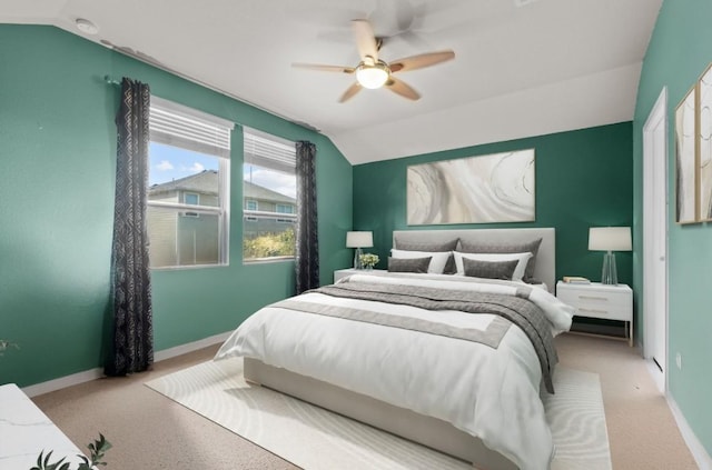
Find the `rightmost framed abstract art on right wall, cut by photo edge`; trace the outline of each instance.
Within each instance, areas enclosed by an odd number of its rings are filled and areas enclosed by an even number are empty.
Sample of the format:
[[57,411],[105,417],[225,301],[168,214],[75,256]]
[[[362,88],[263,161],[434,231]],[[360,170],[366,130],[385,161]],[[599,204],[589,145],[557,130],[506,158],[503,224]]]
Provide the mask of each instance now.
[[698,220],[712,220],[712,66],[700,78],[698,119],[698,163],[700,214]]

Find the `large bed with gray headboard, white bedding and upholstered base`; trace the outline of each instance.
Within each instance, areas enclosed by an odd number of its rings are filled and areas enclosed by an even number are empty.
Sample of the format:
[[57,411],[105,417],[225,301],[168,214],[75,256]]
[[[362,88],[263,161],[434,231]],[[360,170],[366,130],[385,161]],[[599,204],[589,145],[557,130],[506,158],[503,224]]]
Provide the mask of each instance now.
[[[553,391],[556,358],[540,337],[566,330],[573,316],[550,292],[554,229],[396,231],[394,247],[418,252],[457,240],[457,249],[496,251],[538,239],[525,279],[530,283],[439,272],[356,274],[260,309],[222,344],[216,360],[244,357],[245,378],[253,383],[478,469],[548,468],[554,449],[540,398],[546,391],[540,388]],[[431,257],[429,266],[434,261]],[[479,303],[458,302],[482,294],[504,299],[497,308],[506,320],[458,310]],[[437,302],[441,310],[426,310],[422,302],[427,308]],[[520,308],[531,313],[510,313]],[[532,332],[530,314],[544,318],[546,326]],[[526,324],[513,317],[523,317]],[[542,333],[546,328],[551,331]]]

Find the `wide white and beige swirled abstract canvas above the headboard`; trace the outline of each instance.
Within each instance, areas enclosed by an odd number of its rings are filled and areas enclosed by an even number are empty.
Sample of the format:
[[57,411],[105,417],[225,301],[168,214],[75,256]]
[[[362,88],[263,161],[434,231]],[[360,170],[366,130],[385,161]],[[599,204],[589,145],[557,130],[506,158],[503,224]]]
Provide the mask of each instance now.
[[409,226],[535,220],[534,149],[407,169]]

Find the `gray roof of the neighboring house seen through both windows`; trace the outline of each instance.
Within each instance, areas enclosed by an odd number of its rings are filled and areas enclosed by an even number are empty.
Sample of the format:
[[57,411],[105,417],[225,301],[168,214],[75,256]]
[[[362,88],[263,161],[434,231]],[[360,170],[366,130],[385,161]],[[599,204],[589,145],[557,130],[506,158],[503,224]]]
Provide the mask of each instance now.
[[[218,191],[218,172],[216,170],[202,170],[199,173],[191,174],[186,178],[168,181],[160,184],[154,184],[148,189],[149,194],[159,194],[170,191],[190,191],[201,194],[217,196]],[[294,198],[273,191],[259,184],[249,181],[243,181],[243,198],[256,199],[260,201],[284,202],[296,204]]]

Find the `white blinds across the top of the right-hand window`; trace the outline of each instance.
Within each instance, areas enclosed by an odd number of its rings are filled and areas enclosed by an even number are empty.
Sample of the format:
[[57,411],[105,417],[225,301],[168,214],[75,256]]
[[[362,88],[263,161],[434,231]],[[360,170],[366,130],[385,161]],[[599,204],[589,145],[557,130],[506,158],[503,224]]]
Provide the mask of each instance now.
[[247,127],[243,136],[245,163],[294,174],[297,161],[294,142]]

